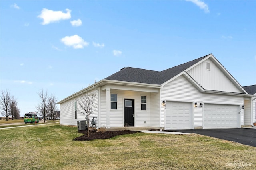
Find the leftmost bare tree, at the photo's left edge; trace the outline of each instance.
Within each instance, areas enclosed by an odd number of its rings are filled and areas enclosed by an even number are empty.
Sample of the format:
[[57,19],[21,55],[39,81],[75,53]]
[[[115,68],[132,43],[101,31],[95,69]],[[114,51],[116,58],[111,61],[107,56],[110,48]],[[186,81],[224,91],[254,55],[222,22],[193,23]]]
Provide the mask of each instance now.
[[10,90],[3,91],[1,90],[0,94],[0,111],[1,115],[6,117],[6,121],[8,121],[8,116],[10,116],[10,104],[11,104],[11,97],[10,97]]

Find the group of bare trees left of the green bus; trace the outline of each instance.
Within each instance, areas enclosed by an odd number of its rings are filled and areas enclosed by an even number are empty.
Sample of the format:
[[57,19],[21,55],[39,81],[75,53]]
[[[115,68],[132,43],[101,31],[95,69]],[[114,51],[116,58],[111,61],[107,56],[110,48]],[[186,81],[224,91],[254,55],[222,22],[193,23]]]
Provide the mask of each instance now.
[[10,95],[10,90],[1,90],[0,93],[0,115],[6,117],[12,116],[12,120],[20,119],[20,109],[18,108],[18,101],[14,96]]

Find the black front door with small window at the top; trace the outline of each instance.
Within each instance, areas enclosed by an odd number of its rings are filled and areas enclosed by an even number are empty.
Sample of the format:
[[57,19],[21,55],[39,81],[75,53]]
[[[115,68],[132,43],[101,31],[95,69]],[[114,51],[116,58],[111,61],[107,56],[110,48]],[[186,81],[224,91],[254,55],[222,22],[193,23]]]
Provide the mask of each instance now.
[[133,99],[124,99],[124,126],[134,126]]

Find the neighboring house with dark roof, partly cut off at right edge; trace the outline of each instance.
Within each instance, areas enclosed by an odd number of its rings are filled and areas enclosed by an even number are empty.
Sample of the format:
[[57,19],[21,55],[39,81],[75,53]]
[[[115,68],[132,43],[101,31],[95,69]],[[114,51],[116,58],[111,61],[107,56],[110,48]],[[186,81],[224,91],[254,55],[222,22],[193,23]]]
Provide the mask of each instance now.
[[[248,92],[248,94],[256,96],[256,84],[252,86],[244,86],[243,88],[244,90],[246,90],[246,92]],[[248,112],[249,115],[251,111],[252,123],[256,123],[256,97],[252,98],[251,101],[246,100],[245,102],[247,102],[246,105],[248,106],[248,108],[245,107],[244,112]],[[250,120],[248,119],[248,121]]]

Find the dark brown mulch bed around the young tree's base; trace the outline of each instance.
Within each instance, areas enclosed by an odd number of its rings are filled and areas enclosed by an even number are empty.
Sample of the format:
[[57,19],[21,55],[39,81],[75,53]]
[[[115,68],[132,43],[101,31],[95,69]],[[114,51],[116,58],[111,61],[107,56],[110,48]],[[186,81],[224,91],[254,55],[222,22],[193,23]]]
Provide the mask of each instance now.
[[84,135],[80,137],[76,137],[75,139],[73,139],[74,141],[91,141],[94,139],[109,139],[119,135],[138,133],[137,131],[106,131],[102,133],[102,132],[93,130],[89,132],[90,137],[87,137],[87,130],[82,130],[78,132]]

